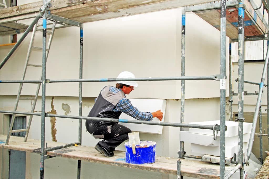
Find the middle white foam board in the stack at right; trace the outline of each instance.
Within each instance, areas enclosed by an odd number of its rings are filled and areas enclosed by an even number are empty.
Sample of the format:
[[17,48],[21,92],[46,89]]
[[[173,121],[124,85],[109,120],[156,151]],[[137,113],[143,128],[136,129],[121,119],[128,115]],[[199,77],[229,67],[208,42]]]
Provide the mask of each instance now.
[[[212,132],[213,133],[213,132]],[[243,142],[248,142],[250,133],[243,135]],[[180,132],[180,141],[187,143],[199,144],[204,146],[220,146],[220,137],[217,136],[217,140],[213,139],[213,135],[190,133],[189,131]],[[238,144],[238,136],[225,137],[225,144],[233,146]]]

